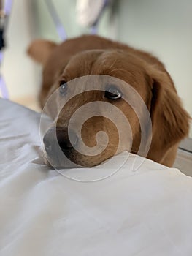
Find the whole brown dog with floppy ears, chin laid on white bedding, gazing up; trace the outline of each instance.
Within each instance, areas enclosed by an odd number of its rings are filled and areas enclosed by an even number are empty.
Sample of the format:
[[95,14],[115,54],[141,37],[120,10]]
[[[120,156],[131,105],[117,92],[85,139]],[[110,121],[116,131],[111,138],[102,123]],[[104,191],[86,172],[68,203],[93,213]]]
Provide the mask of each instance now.
[[64,167],[62,151],[77,165],[93,166],[121,151],[137,154],[142,136],[146,145],[150,141],[147,109],[153,137],[145,156],[162,162],[188,133],[189,116],[169,74],[147,53],[101,38],[96,46],[81,40],[82,48],[73,39],[60,46],[37,41],[28,50],[45,67],[42,105],[57,91],[54,106],[47,108],[55,118],[44,137],[47,158]]

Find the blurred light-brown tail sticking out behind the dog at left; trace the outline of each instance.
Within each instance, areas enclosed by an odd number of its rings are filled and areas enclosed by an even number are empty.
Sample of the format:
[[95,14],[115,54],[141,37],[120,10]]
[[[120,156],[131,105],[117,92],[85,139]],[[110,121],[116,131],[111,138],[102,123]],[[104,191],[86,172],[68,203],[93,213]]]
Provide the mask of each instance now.
[[56,46],[57,44],[55,44],[55,42],[50,42],[45,39],[37,39],[29,45],[27,53],[34,59],[34,61],[45,66],[50,53],[52,53]]

